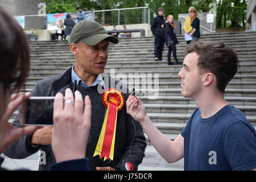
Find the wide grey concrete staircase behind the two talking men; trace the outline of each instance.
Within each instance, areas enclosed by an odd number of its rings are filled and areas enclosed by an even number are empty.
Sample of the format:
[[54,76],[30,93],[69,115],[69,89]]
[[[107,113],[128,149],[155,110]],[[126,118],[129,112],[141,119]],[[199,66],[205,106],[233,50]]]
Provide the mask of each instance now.
[[[179,61],[184,59],[184,48],[187,44],[182,36],[177,36]],[[224,42],[236,49],[239,57],[239,68],[236,76],[226,88],[225,98],[240,109],[256,128],[256,32],[229,32],[202,35],[202,41]],[[26,82],[26,90],[31,91],[37,81],[63,73],[74,63],[74,57],[67,42],[31,42],[31,69]],[[110,44],[109,59],[105,72],[117,79],[122,77],[129,88],[135,88],[147,113],[155,126],[168,138],[175,139],[186,125],[192,112],[196,109],[192,99],[181,96],[180,78],[177,73],[181,65],[167,65],[167,47],[164,48],[163,59],[154,61],[154,38],[124,38],[117,45]],[[174,61],[173,57],[171,60]],[[114,72],[114,74],[113,74]],[[143,78],[147,80],[147,88]],[[141,78],[141,79],[138,79]],[[154,85],[154,81],[159,82]],[[151,89],[148,87],[152,85]],[[158,93],[155,100],[150,99],[151,93]],[[147,138],[150,145],[150,140]],[[146,158],[139,169],[183,169],[183,163],[167,164],[157,156],[154,147],[148,146]],[[161,162],[159,162],[161,160]]]

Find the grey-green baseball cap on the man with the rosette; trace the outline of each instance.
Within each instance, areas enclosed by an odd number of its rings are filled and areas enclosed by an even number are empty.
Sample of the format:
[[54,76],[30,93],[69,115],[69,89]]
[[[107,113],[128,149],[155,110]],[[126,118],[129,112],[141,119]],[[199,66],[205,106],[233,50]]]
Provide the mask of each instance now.
[[104,39],[114,44],[118,43],[115,36],[109,35],[100,23],[92,20],[82,20],[77,23],[70,35],[70,43],[77,43],[81,40],[90,46],[95,46]]

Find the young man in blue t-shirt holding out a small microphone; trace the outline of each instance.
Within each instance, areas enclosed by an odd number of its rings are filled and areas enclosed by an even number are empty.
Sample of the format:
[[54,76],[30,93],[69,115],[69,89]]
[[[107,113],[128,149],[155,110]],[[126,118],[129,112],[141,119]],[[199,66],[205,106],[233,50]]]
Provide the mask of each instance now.
[[160,155],[174,163],[184,157],[185,170],[256,170],[256,134],[245,115],[224,98],[228,82],[236,75],[234,49],[216,42],[196,42],[185,49],[181,93],[198,108],[172,141],[150,121],[142,102],[129,96],[127,113],[136,115]]

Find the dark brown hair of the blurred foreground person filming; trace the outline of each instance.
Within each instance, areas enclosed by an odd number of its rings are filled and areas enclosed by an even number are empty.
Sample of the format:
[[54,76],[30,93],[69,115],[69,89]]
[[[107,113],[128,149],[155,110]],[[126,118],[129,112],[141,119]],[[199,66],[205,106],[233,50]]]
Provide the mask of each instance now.
[[[26,36],[19,24],[0,6],[0,83],[20,89],[30,69]],[[12,90],[12,91],[14,91]]]

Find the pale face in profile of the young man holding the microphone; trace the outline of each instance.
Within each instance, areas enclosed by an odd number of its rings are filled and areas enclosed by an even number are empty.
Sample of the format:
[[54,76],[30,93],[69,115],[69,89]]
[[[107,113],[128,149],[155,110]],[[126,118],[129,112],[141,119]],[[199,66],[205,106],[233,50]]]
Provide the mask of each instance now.
[[197,66],[199,55],[196,52],[189,53],[184,61],[178,76],[181,78],[181,94],[184,97],[195,98],[200,94],[203,86],[203,78]]

